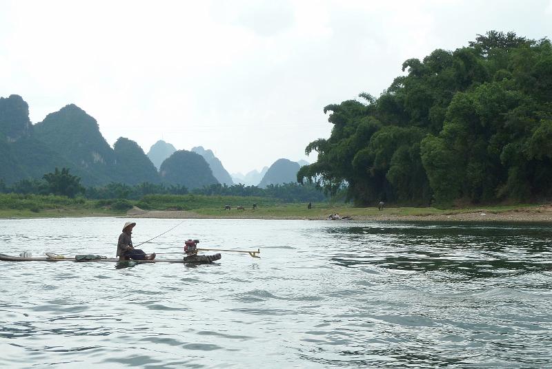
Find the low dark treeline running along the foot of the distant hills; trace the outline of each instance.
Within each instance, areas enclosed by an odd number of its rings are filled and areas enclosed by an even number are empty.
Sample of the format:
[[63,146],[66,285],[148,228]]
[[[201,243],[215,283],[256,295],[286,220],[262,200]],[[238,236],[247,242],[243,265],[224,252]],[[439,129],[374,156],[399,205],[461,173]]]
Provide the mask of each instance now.
[[83,196],[93,200],[128,199],[139,200],[147,195],[194,195],[205,196],[247,196],[257,198],[274,198],[282,202],[317,202],[326,200],[322,191],[314,184],[270,184],[262,189],[244,184],[211,184],[201,189],[188,191],[184,186],[166,185],[144,182],[135,185],[111,182],[105,186],[85,188],[80,184],[80,178],[72,176],[69,169],[56,169],[46,173],[43,179],[19,180],[8,186],[0,180],[0,193],[21,193],[37,195]]

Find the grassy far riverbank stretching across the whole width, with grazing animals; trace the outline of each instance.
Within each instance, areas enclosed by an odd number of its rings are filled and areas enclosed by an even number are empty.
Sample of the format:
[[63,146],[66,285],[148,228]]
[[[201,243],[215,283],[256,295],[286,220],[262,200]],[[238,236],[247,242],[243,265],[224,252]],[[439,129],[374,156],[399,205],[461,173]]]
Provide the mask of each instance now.
[[[257,209],[253,210],[253,204]],[[225,210],[230,205],[231,210]],[[244,210],[237,210],[238,206]],[[538,204],[435,209],[389,207],[355,208],[348,204],[320,202],[307,209],[306,204],[286,204],[270,198],[202,195],[150,195],[141,200],[88,200],[63,196],[0,194],[0,218],[127,216],[130,218],[259,218],[326,219],[338,213],[357,220],[508,220],[552,221],[552,207]]]

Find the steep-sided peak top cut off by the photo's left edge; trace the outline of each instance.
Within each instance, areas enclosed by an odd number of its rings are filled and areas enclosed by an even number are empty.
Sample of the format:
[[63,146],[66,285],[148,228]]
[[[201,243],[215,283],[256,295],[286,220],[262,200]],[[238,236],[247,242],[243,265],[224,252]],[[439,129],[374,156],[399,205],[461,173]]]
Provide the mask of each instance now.
[[0,142],[14,142],[31,134],[29,105],[19,95],[0,97]]

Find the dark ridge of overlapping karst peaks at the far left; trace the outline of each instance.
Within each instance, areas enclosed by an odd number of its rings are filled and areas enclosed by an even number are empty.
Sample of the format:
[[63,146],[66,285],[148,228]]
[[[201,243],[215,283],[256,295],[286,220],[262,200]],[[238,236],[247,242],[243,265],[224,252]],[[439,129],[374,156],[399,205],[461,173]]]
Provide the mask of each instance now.
[[42,178],[66,167],[86,185],[159,182],[159,173],[134,141],[119,138],[112,149],[94,118],[67,105],[31,125],[20,96],[0,98],[0,180]]

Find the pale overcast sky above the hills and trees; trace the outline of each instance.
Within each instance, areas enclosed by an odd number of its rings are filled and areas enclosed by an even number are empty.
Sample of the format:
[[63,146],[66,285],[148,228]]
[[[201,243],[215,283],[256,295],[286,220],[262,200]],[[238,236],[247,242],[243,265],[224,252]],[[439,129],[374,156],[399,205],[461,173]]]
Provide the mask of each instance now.
[[110,145],[202,145],[245,173],[314,161],[324,106],[488,30],[552,37],[552,1],[0,0],[0,96],[32,123],[75,103]]

